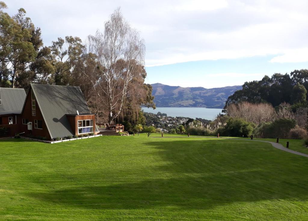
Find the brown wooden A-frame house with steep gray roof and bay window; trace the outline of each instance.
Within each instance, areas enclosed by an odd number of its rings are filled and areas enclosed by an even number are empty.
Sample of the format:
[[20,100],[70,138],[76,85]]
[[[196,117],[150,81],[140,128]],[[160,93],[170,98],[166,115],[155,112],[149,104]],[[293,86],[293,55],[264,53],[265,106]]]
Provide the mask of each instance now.
[[24,101],[20,98],[19,103],[22,111],[15,120],[18,130],[11,130],[10,135],[25,132],[24,135],[52,140],[97,132],[95,115],[79,87],[30,84]]

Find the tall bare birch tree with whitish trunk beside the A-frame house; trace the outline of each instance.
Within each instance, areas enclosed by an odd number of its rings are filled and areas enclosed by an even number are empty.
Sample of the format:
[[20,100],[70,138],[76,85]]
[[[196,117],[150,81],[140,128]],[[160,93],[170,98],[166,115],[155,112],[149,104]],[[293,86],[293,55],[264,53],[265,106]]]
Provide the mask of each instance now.
[[97,57],[99,76],[84,74],[107,106],[111,123],[121,113],[134,69],[144,65],[144,39],[130,27],[118,8],[105,22],[103,33],[98,30],[94,36],[88,36],[88,52]]

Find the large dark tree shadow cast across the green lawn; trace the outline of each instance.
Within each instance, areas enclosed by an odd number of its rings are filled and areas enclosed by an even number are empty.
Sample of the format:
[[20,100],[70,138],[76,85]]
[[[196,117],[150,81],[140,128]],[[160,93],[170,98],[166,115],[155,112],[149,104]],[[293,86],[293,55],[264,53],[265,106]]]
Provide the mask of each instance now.
[[[152,154],[162,162],[168,162],[152,168],[154,174],[164,175],[148,174],[145,180],[136,177],[136,182],[128,175],[129,182],[121,184],[97,182],[30,196],[72,207],[105,209],[209,209],[234,202],[308,199],[306,159],[281,155],[270,145],[231,140],[164,140],[146,145],[157,150]],[[97,174],[93,177],[97,179]]]

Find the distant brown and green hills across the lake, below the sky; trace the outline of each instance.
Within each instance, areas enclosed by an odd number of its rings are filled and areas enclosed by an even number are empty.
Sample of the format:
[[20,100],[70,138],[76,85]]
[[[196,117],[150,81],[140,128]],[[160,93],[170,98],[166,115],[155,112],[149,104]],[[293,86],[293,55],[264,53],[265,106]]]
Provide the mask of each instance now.
[[242,86],[210,89],[202,87],[183,88],[160,83],[151,85],[156,107],[223,108],[228,97],[242,88]]

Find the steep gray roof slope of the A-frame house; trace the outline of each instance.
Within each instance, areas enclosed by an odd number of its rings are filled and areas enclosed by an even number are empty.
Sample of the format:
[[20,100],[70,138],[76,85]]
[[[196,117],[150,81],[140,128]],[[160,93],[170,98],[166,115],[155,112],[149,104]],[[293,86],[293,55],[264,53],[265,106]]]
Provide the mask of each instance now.
[[51,138],[74,135],[66,114],[91,113],[79,87],[31,84]]

